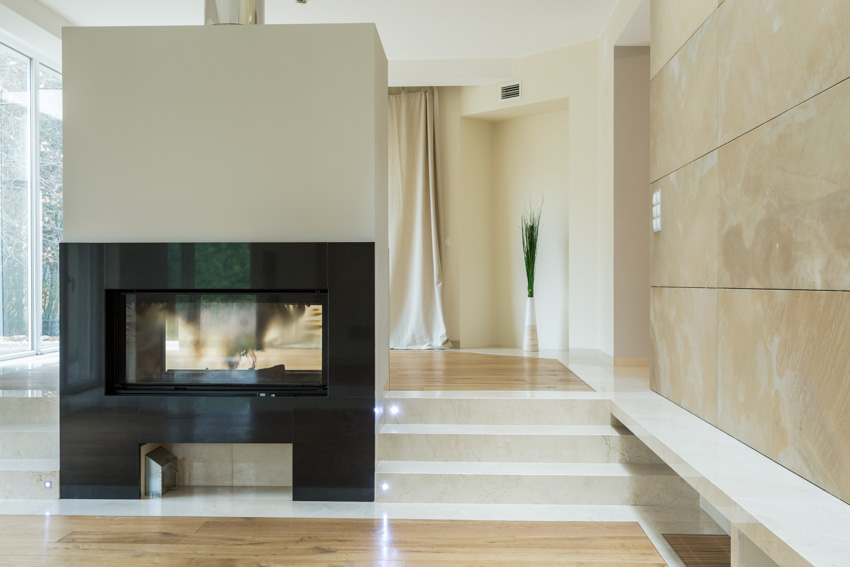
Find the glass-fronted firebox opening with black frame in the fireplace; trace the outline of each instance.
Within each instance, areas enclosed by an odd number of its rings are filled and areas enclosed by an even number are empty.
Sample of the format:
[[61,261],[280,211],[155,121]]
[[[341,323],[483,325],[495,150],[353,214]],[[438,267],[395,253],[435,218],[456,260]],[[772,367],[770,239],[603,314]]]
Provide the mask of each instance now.
[[107,290],[107,394],[327,395],[327,293]]

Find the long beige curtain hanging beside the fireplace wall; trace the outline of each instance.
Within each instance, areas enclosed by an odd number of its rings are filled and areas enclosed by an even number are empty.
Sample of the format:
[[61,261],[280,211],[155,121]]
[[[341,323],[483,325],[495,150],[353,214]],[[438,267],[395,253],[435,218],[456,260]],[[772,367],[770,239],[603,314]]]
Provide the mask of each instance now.
[[389,97],[390,348],[452,348],[442,301],[437,89]]

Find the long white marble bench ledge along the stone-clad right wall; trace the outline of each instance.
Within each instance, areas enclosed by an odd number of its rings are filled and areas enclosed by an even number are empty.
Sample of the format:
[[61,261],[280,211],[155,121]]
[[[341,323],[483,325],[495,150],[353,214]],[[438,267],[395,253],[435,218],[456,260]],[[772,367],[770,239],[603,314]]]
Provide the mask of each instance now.
[[779,565],[848,564],[850,505],[658,394],[611,413]]

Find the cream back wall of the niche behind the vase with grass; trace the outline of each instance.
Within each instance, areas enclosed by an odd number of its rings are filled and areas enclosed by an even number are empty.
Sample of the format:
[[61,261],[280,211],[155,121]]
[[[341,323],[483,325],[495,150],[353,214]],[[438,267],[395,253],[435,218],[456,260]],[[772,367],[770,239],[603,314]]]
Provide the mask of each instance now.
[[569,111],[495,123],[493,154],[495,344],[521,347],[527,297],[520,217],[543,205],[535,275],[540,348],[569,348]]

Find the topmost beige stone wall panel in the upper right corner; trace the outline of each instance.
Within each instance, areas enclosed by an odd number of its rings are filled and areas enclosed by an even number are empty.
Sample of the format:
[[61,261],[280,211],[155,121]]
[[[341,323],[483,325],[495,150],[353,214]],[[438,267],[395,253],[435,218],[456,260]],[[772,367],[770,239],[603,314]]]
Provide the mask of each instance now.
[[736,0],[717,17],[719,144],[850,76],[846,0]]

